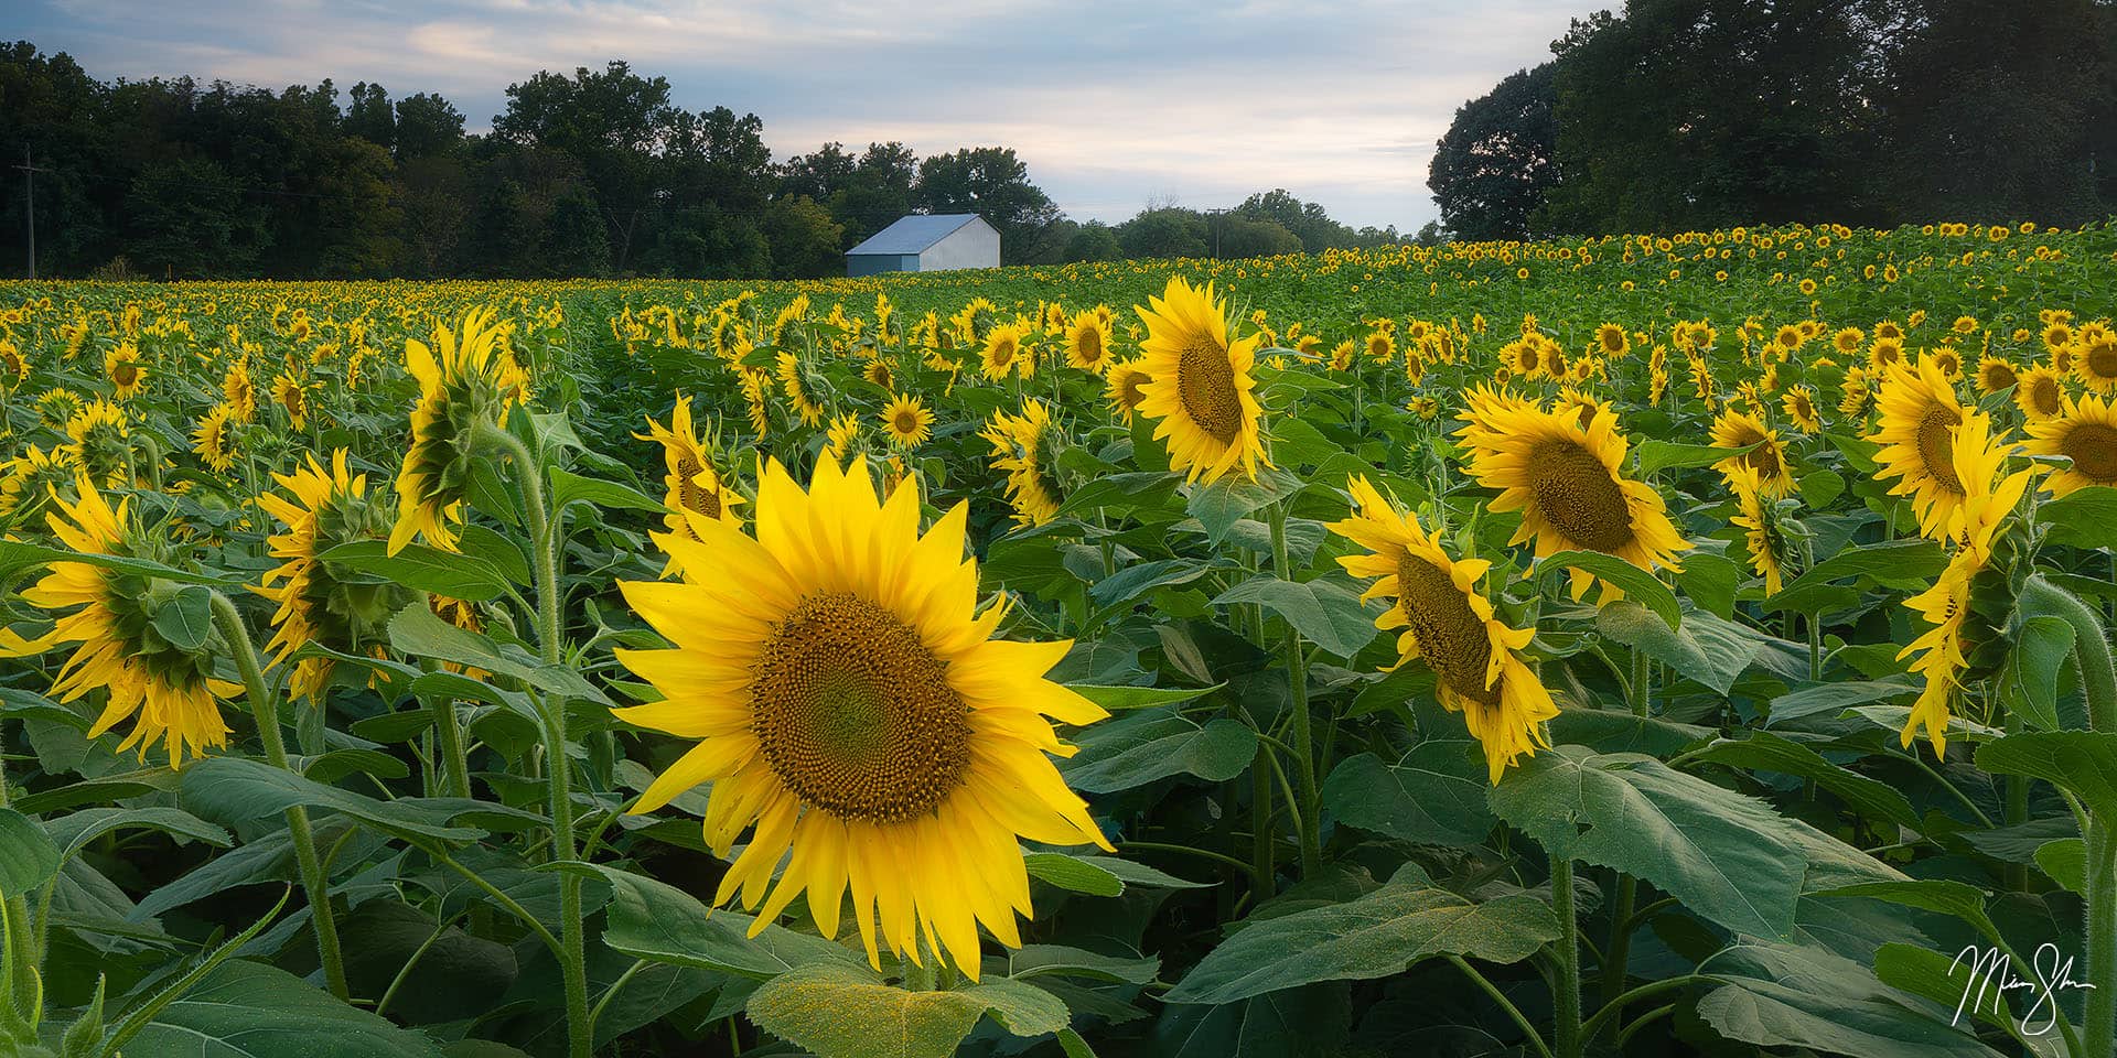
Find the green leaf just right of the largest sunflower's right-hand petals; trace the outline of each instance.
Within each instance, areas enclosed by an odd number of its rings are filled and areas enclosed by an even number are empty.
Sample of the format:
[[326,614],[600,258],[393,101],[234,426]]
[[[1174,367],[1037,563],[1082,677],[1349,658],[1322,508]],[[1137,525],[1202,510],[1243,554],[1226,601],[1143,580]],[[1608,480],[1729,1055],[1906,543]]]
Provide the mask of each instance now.
[[1215,717],[1205,726],[1164,711],[1137,711],[1073,736],[1080,753],[1058,764],[1067,785],[1088,794],[1133,789],[1171,774],[1213,783],[1234,779],[1257,755],[1257,734]]

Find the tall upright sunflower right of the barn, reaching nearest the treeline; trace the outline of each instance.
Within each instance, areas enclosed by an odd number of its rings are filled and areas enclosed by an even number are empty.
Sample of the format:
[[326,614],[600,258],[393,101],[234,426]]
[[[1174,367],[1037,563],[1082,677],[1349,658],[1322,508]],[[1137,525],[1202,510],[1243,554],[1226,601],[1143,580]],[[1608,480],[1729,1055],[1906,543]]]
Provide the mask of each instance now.
[[1150,309],[1135,307],[1147,324],[1139,368],[1150,381],[1141,385],[1139,413],[1160,421],[1154,440],[1169,438],[1171,470],[1211,485],[1241,463],[1243,476],[1255,480],[1260,459],[1272,466],[1257,436],[1264,411],[1249,375],[1257,336],[1228,339],[1226,305],[1215,300],[1213,284],[1194,288],[1173,275],[1162,296],[1147,303]]

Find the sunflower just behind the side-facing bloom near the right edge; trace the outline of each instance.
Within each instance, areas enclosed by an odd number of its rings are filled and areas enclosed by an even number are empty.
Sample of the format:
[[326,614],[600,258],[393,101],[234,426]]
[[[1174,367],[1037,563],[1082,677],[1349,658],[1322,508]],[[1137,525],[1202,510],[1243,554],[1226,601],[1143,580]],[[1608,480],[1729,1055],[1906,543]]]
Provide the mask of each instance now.
[[1876,396],[1882,421],[1867,438],[1882,446],[1874,461],[1876,478],[1897,478],[1888,495],[1910,495],[1918,531],[1941,540],[1962,506],[1962,478],[1956,476],[1950,438],[1962,425],[1962,404],[1956,389],[1941,379],[1933,360],[1918,366],[1899,364],[1882,381]]

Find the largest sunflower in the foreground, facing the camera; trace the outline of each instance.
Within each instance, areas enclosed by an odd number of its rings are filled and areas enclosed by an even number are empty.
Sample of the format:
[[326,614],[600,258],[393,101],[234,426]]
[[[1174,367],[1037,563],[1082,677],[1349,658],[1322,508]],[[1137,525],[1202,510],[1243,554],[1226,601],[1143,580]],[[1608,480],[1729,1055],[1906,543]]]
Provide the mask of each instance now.
[[1048,758],[1073,753],[1052,719],[1107,713],[1044,679],[1071,643],[993,639],[965,518],[921,535],[910,482],[883,501],[864,461],[824,459],[802,493],[771,461],[756,537],[699,518],[701,542],[654,535],[684,582],[620,584],[673,647],[618,652],[667,698],[616,715],[699,741],[633,813],[711,783],[713,853],[756,827],[713,897],[762,899],[752,933],[807,891],[834,937],[851,889],[874,965],[879,942],[925,965],[923,940],[976,980],[978,927],[1012,948],[1031,914],[1020,838],[1109,849]]

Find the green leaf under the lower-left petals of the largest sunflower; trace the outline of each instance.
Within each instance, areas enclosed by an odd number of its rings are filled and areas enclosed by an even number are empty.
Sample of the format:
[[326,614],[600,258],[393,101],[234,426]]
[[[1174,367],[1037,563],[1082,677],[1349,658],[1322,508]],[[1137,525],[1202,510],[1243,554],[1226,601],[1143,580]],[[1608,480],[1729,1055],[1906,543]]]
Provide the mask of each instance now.
[[862,965],[849,948],[779,925],[749,937],[756,918],[707,910],[690,893],[654,878],[589,863],[565,863],[563,870],[610,882],[603,944],[633,959],[758,980],[819,963]]

